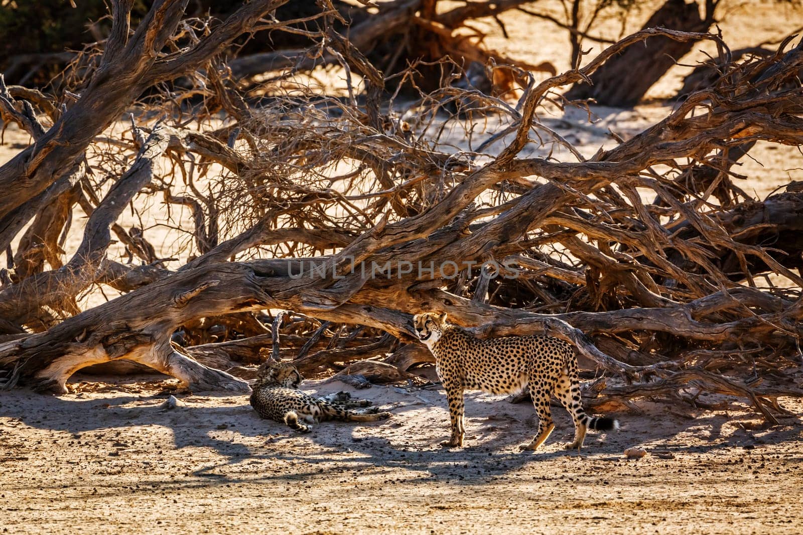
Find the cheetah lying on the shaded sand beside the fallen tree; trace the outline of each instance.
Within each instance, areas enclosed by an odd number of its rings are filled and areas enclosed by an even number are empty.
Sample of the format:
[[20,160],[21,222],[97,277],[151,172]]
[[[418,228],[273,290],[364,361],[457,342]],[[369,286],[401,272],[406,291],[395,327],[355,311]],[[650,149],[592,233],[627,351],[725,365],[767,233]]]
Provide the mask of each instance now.
[[303,433],[327,419],[345,422],[373,422],[388,419],[389,412],[380,412],[378,407],[365,411],[351,411],[355,407],[369,407],[368,399],[351,399],[349,392],[337,392],[323,398],[315,398],[296,390],[304,377],[291,363],[268,360],[259,367],[254,391],[251,392],[251,407],[262,418],[283,422]]

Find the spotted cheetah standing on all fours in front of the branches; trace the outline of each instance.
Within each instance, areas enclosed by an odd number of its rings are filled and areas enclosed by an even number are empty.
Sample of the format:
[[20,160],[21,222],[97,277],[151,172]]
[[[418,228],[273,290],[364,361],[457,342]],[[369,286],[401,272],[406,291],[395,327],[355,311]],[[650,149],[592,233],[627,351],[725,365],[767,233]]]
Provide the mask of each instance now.
[[451,438],[442,446],[463,446],[464,389],[512,394],[529,385],[538,412],[538,434],[521,449],[535,450],[555,428],[549,411],[552,394],[574,419],[574,442],[567,448],[579,450],[589,428],[595,431],[619,428],[613,418],[594,418],[583,411],[577,357],[568,343],[543,334],[480,339],[447,324],[446,314],[416,314],[413,322],[418,338],[435,356],[438,377],[446,389]]

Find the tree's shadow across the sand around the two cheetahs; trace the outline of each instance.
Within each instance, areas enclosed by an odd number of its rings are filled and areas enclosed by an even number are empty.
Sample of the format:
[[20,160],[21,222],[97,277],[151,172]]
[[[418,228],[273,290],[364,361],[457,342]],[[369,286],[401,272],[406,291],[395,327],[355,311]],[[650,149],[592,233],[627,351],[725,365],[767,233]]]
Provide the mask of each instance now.
[[[18,420],[33,428],[71,433],[76,438],[85,433],[132,426],[169,428],[173,434],[173,447],[177,450],[212,448],[224,458],[222,462],[192,472],[194,476],[205,480],[199,484],[236,483],[239,481],[236,473],[220,474],[215,470],[226,465],[258,464],[260,460],[286,460],[294,466],[291,471],[266,474],[257,480],[339,476],[352,473],[360,467],[373,466],[419,472],[418,479],[422,482],[442,480],[471,484],[515,475],[526,464],[557,457],[569,456],[580,462],[620,460],[622,451],[636,444],[644,444],[648,448],[650,444],[660,444],[660,448],[666,452],[682,454],[715,452],[725,448],[754,448],[756,444],[800,440],[801,436],[797,425],[799,419],[784,419],[782,425],[764,428],[760,431],[760,437],[748,430],[724,436],[723,425],[729,421],[725,415],[707,412],[697,418],[680,417],[671,414],[666,407],[655,406],[642,415],[619,415],[622,420],[622,431],[619,433],[601,436],[589,432],[585,448],[578,454],[562,448],[561,443],[571,439],[573,426],[565,411],[553,408],[552,415],[557,428],[542,447],[543,451],[519,452],[518,444],[529,441],[535,432],[537,420],[532,406],[488,401],[482,395],[468,393],[467,447],[446,449],[438,446],[448,432],[442,392],[405,392],[392,387],[353,391],[335,383],[332,387],[320,389],[319,393],[339,389],[350,390],[355,397],[367,397],[376,404],[389,406],[393,411],[393,419],[359,425],[326,422],[315,426],[312,433],[300,435],[282,424],[259,419],[251,410],[247,395],[188,395],[183,396],[186,407],[161,411],[159,404],[169,392],[146,391],[128,395],[123,387],[108,397],[93,394],[85,399],[80,399],[80,395],[46,397],[29,391],[13,391],[0,398],[0,417]],[[33,396],[47,400],[40,405],[46,406],[46,411],[31,411],[31,403],[26,401],[30,402]],[[221,402],[226,405],[219,406]],[[491,407],[489,403],[498,403],[500,406]],[[494,409],[493,416],[486,416],[491,408]],[[415,418],[417,425],[408,425],[406,415],[413,411],[426,411],[429,417],[422,418],[418,412]],[[636,420],[638,425],[634,424]],[[645,425],[645,421],[650,424]],[[634,433],[629,432],[631,428]],[[225,433],[222,432],[224,430]],[[682,441],[684,433],[694,433],[707,444],[685,447]],[[333,456],[336,456],[337,463],[332,463]],[[544,479],[560,479],[562,476],[559,473],[544,473]],[[255,480],[252,475],[247,479]]]

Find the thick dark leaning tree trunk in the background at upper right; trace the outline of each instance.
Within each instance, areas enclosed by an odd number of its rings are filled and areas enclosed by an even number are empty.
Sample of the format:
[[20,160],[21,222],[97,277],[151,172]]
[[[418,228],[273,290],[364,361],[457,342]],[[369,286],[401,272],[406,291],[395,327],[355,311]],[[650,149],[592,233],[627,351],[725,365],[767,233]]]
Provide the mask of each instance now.
[[[714,22],[714,7],[715,2],[706,2],[703,19],[695,2],[666,0],[643,27],[703,32]],[[647,39],[645,46],[628,47],[622,54],[609,59],[591,76],[593,85],[576,83],[565,96],[568,99],[596,99],[605,106],[633,106],[694,45],[691,40],[675,41],[668,37]]]

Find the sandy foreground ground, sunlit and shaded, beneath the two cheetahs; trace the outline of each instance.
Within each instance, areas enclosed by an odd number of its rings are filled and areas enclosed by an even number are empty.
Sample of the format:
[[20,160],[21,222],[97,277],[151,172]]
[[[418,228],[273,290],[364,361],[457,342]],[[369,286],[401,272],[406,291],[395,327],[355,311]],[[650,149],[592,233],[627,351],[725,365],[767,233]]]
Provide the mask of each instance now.
[[[446,450],[437,390],[310,382],[394,416],[300,435],[247,396],[178,390],[186,407],[160,411],[173,381],[71,386],[0,398],[2,533],[800,533],[801,422],[766,428],[736,403],[620,413],[580,455],[555,408],[533,454],[532,406],[500,396],[467,395],[467,448]],[[627,460],[634,446],[650,453]]]

